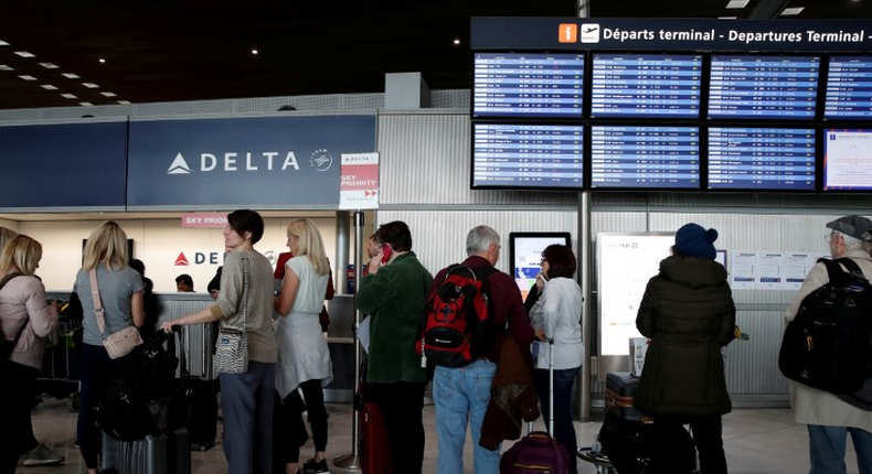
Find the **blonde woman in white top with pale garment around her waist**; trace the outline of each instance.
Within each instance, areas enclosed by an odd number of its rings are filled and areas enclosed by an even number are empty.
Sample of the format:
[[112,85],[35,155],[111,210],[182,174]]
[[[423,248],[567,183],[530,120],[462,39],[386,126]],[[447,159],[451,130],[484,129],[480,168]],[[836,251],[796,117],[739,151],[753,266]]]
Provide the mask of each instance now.
[[284,466],[287,474],[297,472],[299,449],[308,439],[302,422],[306,410],[312,429],[315,457],[304,464],[304,472],[328,473],[325,459],[327,409],[322,387],[333,379],[333,369],[318,315],[323,306],[330,263],[321,234],[310,219],[288,225],[288,247],[294,257],[285,263],[281,293],[275,302],[281,317],[276,327],[274,452],[276,463]]

